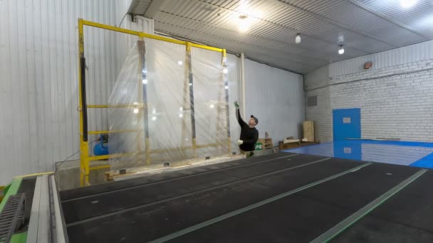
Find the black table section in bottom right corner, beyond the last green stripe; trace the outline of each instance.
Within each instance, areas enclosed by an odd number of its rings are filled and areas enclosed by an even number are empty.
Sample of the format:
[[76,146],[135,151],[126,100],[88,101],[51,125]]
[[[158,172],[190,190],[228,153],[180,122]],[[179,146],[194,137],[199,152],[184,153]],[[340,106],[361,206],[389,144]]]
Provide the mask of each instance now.
[[427,171],[331,242],[433,242],[432,185]]

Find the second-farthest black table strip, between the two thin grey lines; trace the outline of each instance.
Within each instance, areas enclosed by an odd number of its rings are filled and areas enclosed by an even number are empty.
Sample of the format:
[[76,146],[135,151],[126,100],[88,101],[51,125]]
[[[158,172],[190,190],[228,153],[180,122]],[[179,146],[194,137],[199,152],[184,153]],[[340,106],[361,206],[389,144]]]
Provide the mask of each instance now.
[[220,187],[228,183],[262,176],[273,171],[293,168],[319,161],[324,157],[293,155],[281,158],[268,158],[260,163],[248,163],[246,166],[232,166],[224,170],[217,169],[207,173],[196,173],[177,179],[162,180],[155,183],[137,185],[111,192],[99,193],[85,198],[68,200],[62,203],[66,224],[85,220],[110,212],[125,210],[130,207],[149,204],[160,200],[177,197],[199,190]]

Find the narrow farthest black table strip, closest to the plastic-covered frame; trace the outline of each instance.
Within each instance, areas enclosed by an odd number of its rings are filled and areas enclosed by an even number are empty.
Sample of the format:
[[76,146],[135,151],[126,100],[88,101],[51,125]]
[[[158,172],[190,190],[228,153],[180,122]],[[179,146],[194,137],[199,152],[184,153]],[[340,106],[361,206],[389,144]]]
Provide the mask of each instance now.
[[191,168],[188,170],[173,171],[173,172],[162,173],[162,174],[158,174],[158,175],[133,178],[130,180],[121,180],[121,181],[117,181],[115,183],[105,183],[105,184],[100,184],[100,185],[92,185],[92,186],[85,187],[85,188],[75,188],[75,189],[71,189],[71,190],[63,190],[63,191],[61,191],[60,195],[61,195],[62,201],[71,200],[73,198],[80,198],[80,197],[85,197],[88,195],[95,195],[98,193],[110,192],[113,190],[121,190],[123,188],[130,188],[130,187],[134,187],[137,185],[144,185],[147,183],[153,183],[153,182],[157,182],[157,181],[161,181],[161,180],[169,180],[172,178],[178,178],[178,177],[193,175],[193,174],[197,174],[197,173],[206,173],[208,171],[221,170],[221,169],[229,168],[232,166],[240,166],[240,165],[244,165],[246,163],[266,161],[268,159],[285,157],[285,156],[290,156],[293,154],[295,154],[295,153],[274,153],[274,154],[266,155],[266,156],[244,158],[244,159],[237,160],[237,161],[229,161],[229,162],[225,162],[225,163],[216,163],[216,164],[209,165],[209,166],[201,166],[201,167]]

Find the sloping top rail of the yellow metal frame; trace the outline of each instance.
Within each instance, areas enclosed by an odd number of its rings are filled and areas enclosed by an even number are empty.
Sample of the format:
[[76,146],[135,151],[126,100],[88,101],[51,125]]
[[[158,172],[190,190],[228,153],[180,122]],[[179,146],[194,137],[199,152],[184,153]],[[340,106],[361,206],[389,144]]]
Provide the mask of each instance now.
[[[115,26],[108,26],[106,24],[103,23],[95,23],[92,21],[85,21],[83,20],[83,25],[84,26],[92,26],[92,27],[96,27],[96,28],[103,28],[105,30],[109,30],[109,31],[116,31],[116,32],[120,32],[120,33],[127,33],[130,35],[134,35],[134,36],[138,36],[140,38],[150,38],[150,39],[154,39],[154,40],[159,40],[159,41],[165,41],[165,42],[169,42],[169,43],[176,43],[179,45],[187,45],[187,41],[179,41],[176,39],[172,39],[172,38],[167,38],[164,36],[155,36],[155,35],[151,35],[148,33],[143,33],[143,32],[138,32],[138,31],[131,31],[128,30],[126,28],[118,28]],[[196,43],[190,43],[191,46],[194,46],[195,48],[202,48],[202,49],[206,49],[206,50],[214,50],[217,51],[219,53],[222,53],[224,51],[224,49],[221,48],[214,48],[212,46],[207,46],[207,45],[200,45],[200,44],[196,44]]]

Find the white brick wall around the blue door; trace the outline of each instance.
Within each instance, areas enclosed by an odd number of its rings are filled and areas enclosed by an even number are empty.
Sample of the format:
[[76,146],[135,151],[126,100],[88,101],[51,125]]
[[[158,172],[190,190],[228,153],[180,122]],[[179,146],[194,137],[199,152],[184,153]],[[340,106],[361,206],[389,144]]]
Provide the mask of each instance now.
[[433,141],[433,60],[307,80],[306,85],[307,97],[318,95],[318,106],[307,107],[306,119],[316,121],[316,139],[322,142],[332,140],[332,109],[355,107],[361,108],[362,138]]

